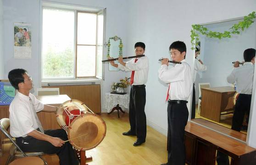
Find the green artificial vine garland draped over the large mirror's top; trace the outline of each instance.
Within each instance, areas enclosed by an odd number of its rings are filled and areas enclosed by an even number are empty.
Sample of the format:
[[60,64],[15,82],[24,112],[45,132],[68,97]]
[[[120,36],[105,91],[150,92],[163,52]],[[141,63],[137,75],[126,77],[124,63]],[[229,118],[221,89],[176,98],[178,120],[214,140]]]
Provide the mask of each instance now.
[[[202,35],[205,35],[206,37],[210,38],[230,38],[231,34],[240,34],[240,31],[244,31],[245,28],[250,27],[250,25],[254,22],[253,20],[256,18],[255,11],[250,13],[248,16],[244,17],[243,21],[238,22],[238,24],[234,24],[231,28],[228,29],[228,31],[224,32],[212,32],[206,27],[203,27],[202,25],[192,25],[191,29],[191,43],[192,43],[192,50],[195,49],[195,47],[199,43],[199,33]],[[195,42],[194,42],[195,41]]]

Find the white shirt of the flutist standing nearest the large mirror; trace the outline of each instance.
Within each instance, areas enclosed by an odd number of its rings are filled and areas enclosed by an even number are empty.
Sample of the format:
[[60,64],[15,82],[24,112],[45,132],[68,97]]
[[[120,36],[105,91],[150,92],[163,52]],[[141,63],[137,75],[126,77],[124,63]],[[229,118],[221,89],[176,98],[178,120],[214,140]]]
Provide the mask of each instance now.
[[174,66],[161,65],[158,77],[165,83],[170,83],[170,100],[188,100],[192,92],[192,73],[186,60]]

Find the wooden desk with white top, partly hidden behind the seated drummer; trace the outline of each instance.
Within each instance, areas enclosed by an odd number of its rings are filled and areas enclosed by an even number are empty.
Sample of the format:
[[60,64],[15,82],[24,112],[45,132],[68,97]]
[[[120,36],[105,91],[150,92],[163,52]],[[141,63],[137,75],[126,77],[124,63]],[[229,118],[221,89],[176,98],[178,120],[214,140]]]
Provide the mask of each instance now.
[[[37,99],[51,106],[60,106],[65,101],[70,100],[67,95],[51,95],[51,96],[36,96]],[[57,123],[55,113],[51,112],[38,112],[38,117],[42,123],[43,128],[46,129],[58,129],[60,126]],[[0,106],[0,118],[9,118],[9,106]],[[2,154],[2,140],[6,136],[0,132],[0,155]]]

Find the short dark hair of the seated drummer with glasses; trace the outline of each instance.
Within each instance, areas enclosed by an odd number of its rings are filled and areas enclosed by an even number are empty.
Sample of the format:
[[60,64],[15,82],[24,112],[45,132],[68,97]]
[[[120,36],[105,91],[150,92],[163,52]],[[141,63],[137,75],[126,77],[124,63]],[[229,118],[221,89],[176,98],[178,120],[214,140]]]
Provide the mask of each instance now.
[[11,83],[11,85],[15,88],[15,89],[19,89],[18,84],[21,82],[24,82],[24,77],[23,75],[27,73],[27,71],[25,69],[13,69],[9,72],[8,74],[8,79]]

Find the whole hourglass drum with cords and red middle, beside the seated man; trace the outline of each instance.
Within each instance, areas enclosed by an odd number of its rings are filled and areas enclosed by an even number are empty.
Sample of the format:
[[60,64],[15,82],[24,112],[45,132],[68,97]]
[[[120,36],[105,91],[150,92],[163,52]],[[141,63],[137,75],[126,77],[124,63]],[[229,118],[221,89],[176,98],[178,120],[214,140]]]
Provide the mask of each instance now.
[[66,130],[70,144],[78,150],[95,148],[106,136],[106,123],[82,101],[72,99],[59,106],[58,124]]

